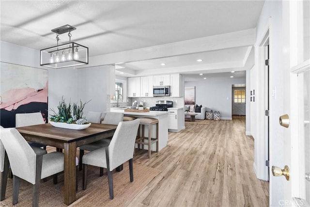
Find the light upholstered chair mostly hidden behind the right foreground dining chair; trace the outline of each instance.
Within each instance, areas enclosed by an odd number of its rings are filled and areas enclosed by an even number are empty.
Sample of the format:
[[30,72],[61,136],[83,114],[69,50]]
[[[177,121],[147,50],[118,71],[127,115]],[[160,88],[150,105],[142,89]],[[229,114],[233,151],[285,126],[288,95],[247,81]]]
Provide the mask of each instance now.
[[[101,117],[101,115],[100,115]],[[109,124],[109,125],[118,125],[124,119],[124,113],[119,112],[106,112],[106,116],[104,120],[101,122],[102,124]],[[100,122],[99,122],[100,123]],[[93,151],[95,149],[99,149],[101,147],[109,146],[111,142],[110,139],[103,139],[99,140],[94,143],[89,143],[79,147],[79,170],[82,170],[82,159],[84,155],[84,150]],[[100,176],[103,175],[103,169],[100,169]]]

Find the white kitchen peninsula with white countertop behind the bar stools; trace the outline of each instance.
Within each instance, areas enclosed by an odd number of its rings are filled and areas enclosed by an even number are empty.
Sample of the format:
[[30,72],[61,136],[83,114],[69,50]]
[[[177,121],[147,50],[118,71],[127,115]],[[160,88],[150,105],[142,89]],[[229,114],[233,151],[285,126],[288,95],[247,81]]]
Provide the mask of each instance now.
[[[127,112],[124,108],[111,108],[111,112],[124,113],[124,116],[133,116],[137,118],[155,118],[158,120],[158,151],[167,146],[168,143],[168,111],[148,111],[148,112]],[[148,136],[148,127],[145,127],[145,137]],[[152,126],[152,137],[156,137],[156,125]],[[147,145],[144,145],[144,149],[148,149]],[[156,151],[156,144],[152,145],[152,151]]]

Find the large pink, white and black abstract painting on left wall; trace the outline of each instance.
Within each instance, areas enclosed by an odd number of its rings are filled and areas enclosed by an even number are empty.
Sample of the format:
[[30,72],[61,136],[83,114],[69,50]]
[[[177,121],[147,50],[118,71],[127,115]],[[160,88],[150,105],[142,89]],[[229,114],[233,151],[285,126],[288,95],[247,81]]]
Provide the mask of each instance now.
[[15,127],[16,113],[41,112],[47,122],[48,70],[0,63],[0,124]]

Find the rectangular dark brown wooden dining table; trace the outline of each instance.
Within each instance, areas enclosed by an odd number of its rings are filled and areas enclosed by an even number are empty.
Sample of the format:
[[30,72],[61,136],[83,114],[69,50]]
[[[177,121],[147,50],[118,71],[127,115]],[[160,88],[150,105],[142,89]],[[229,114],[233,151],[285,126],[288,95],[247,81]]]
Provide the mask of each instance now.
[[86,129],[67,129],[50,124],[17,127],[27,140],[63,149],[64,153],[64,201],[66,205],[76,201],[77,147],[112,137],[117,125],[94,124]]

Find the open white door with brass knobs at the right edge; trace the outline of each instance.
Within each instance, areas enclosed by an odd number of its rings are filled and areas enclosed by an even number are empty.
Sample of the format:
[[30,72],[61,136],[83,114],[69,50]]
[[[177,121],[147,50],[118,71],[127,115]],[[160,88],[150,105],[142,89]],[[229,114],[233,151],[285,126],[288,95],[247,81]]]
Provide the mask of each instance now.
[[[284,198],[280,206],[310,204],[310,1],[283,1],[284,80],[290,91],[284,98],[289,115],[289,127],[284,135],[284,163],[289,166],[290,180],[285,181]],[[288,21],[286,22],[286,18]],[[289,24],[287,24],[289,23]],[[285,55],[287,54],[287,55]],[[289,73],[287,73],[289,72]],[[283,166],[280,166],[281,168]]]

